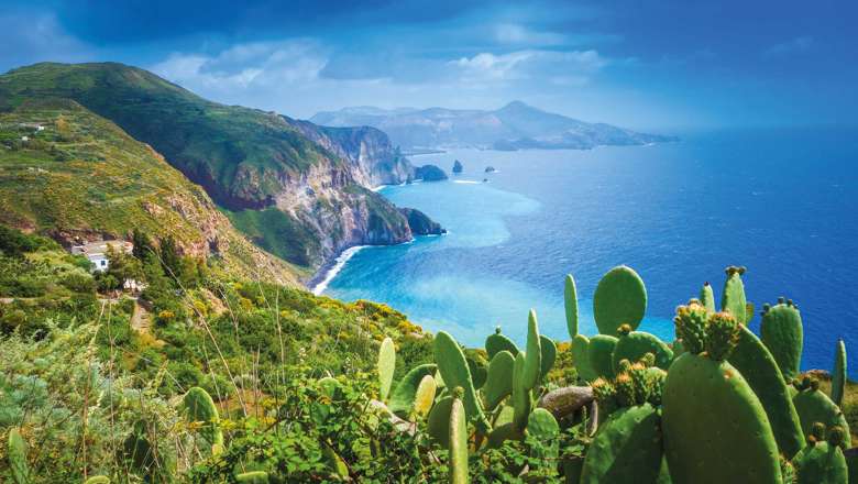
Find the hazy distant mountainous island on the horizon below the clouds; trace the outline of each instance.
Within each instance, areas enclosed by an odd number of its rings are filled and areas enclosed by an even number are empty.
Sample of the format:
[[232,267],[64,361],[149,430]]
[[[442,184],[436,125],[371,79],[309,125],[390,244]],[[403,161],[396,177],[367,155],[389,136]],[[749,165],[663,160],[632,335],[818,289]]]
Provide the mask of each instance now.
[[327,127],[377,128],[408,152],[447,147],[504,151],[590,150],[678,141],[605,123],[588,123],[542,111],[521,101],[494,110],[343,108],[323,111],[310,121]]

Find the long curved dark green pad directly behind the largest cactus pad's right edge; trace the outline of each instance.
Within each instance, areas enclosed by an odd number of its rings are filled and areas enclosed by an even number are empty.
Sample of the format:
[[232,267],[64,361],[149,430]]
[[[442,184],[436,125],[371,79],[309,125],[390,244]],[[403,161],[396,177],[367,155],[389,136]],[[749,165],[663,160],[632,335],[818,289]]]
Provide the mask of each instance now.
[[738,344],[729,362],[745,376],[760,399],[778,448],[791,459],[804,447],[804,433],[792,405],[792,395],[774,358],[748,327],[741,326]]

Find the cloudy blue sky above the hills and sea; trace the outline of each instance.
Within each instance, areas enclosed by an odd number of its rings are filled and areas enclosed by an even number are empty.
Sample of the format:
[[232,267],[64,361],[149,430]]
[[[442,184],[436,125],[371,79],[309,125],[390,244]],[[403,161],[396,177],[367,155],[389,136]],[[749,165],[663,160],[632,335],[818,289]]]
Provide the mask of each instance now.
[[635,129],[856,124],[858,2],[0,0],[0,72],[121,62],[309,118],[513,100]]

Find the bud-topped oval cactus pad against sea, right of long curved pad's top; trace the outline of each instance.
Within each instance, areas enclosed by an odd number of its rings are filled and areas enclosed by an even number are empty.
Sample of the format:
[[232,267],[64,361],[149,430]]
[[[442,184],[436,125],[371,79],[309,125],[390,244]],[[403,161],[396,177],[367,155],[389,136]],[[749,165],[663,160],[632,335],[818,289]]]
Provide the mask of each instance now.
[[760,339],[788,381],[801,371],[803,332],[802,315],[792,300],[780,298],[774,306],[763,305]]

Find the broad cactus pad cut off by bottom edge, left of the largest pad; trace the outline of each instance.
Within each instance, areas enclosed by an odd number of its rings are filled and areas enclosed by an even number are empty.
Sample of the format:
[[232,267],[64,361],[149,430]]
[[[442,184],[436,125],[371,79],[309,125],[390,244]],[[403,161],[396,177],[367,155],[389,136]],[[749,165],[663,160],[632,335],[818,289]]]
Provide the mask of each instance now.
[[620,408],[600,425],[580,483],[656,483],[662,457],[658,411],[649,404]]

